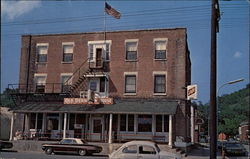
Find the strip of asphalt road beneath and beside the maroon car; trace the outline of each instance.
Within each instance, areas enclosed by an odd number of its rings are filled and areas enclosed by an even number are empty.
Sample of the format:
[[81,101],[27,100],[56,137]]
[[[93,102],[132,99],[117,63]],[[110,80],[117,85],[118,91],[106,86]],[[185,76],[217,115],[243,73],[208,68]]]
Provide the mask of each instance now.
[[92,155],[79,156],[75,154],[55,154],[46,155],[41,152],[17,152],[17,151],[0,151],[0,159],[108,159],[108,156]]

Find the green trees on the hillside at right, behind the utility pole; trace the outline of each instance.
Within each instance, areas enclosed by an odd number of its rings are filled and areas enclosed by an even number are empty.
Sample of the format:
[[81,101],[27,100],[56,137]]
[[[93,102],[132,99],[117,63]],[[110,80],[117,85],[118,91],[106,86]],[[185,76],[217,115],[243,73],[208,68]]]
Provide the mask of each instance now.
[[[249,120],[249,86],[248,84],[244,89],[218,98],[217,129],[219,133],[223,132],[229,136],[236,135],[240,123]],[[198,115],[204,120],[201,127],[205,129],[205,134],[208,134],[209,103],[198,102],[193,105],[197,106]]]

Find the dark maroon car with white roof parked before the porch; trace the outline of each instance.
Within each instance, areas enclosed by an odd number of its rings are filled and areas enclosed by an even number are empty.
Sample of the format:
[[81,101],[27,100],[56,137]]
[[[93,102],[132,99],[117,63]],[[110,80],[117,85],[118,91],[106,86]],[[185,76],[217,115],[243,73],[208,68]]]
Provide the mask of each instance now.
[[65,138],[59,143],[42,144],[42,149],[48,155],[53,152],[76,152],[81,156],[100,153],[101,146],[89,145],[84,140],[78,138]]

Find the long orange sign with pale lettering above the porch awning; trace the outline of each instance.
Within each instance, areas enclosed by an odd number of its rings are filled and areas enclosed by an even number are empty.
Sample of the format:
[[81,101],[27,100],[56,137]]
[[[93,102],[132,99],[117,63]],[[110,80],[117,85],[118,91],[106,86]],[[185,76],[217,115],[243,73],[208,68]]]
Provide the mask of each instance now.
[[87,98],[64,98],[64,104],[113,104],[113,98],[95,98],[88,101]]

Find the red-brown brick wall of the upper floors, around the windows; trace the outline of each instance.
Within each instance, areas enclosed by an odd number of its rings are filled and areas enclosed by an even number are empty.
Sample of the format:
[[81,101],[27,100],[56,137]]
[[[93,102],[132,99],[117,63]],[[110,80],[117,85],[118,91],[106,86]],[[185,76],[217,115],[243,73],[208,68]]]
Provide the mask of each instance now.
[[[185,89],[190,82],[185,29],[161,29],[141,31],[107,32],[112,40],[109,63],[110,96],[113,97],[164,97],[184,99]],[[29,36],[22,37],[20,83],[26,83],[29,55]],[[167,60],[154,60],[154,38],[168,38]],[[138,39],[136,62],[125,60],[125,40]],[[58,35],[35,35],[31,37],[29,84],[34,73],[47,73],[46,83],[60,83],[61,73],[73,73],[88,57],[88,41],[103,40],[103,33],[79,33]],[[62,42],[74,42],[74,57],[70,64],[62,63]],[[48,43],[48,62],[36,63],[36,44]],[[167,72],[167,95],[154,96],[154,71]],[[124,95],[124,72],[137,72],[136,96]]]

